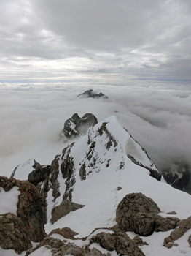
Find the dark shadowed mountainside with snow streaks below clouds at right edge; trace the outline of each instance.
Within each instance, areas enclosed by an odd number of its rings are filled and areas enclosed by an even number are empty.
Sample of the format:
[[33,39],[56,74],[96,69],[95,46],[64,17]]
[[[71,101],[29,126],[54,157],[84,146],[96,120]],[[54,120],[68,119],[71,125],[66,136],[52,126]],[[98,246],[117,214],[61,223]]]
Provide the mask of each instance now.
[[176,189],[184,190],[190,181],[190,167],[186,162],[175,160],[162,170],[162,174],[165,181]]

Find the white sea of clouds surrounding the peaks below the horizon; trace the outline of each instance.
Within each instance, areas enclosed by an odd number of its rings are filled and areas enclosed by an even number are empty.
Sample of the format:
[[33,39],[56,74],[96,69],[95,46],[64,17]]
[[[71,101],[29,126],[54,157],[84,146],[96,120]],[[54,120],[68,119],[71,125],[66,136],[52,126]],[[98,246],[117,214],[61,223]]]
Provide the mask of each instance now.
[[[77,97],[87,89],[109,99]],[[172,159],[191,165],[191,89],[180,83],[131,81],[127,86],[0,83],[0,175],[29,158],[50,164],[71,143],[60,138],[66,119],[93,113],[118,121],[159,169]]]

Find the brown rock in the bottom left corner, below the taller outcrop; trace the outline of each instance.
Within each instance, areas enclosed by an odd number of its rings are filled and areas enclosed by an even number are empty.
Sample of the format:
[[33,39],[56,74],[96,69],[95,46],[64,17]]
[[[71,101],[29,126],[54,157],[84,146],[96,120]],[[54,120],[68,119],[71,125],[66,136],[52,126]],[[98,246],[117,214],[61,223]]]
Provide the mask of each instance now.
[[26,226],[15,214],[0,215],[0,246],[3,249],[15,249],[17,253],[32,247]]

